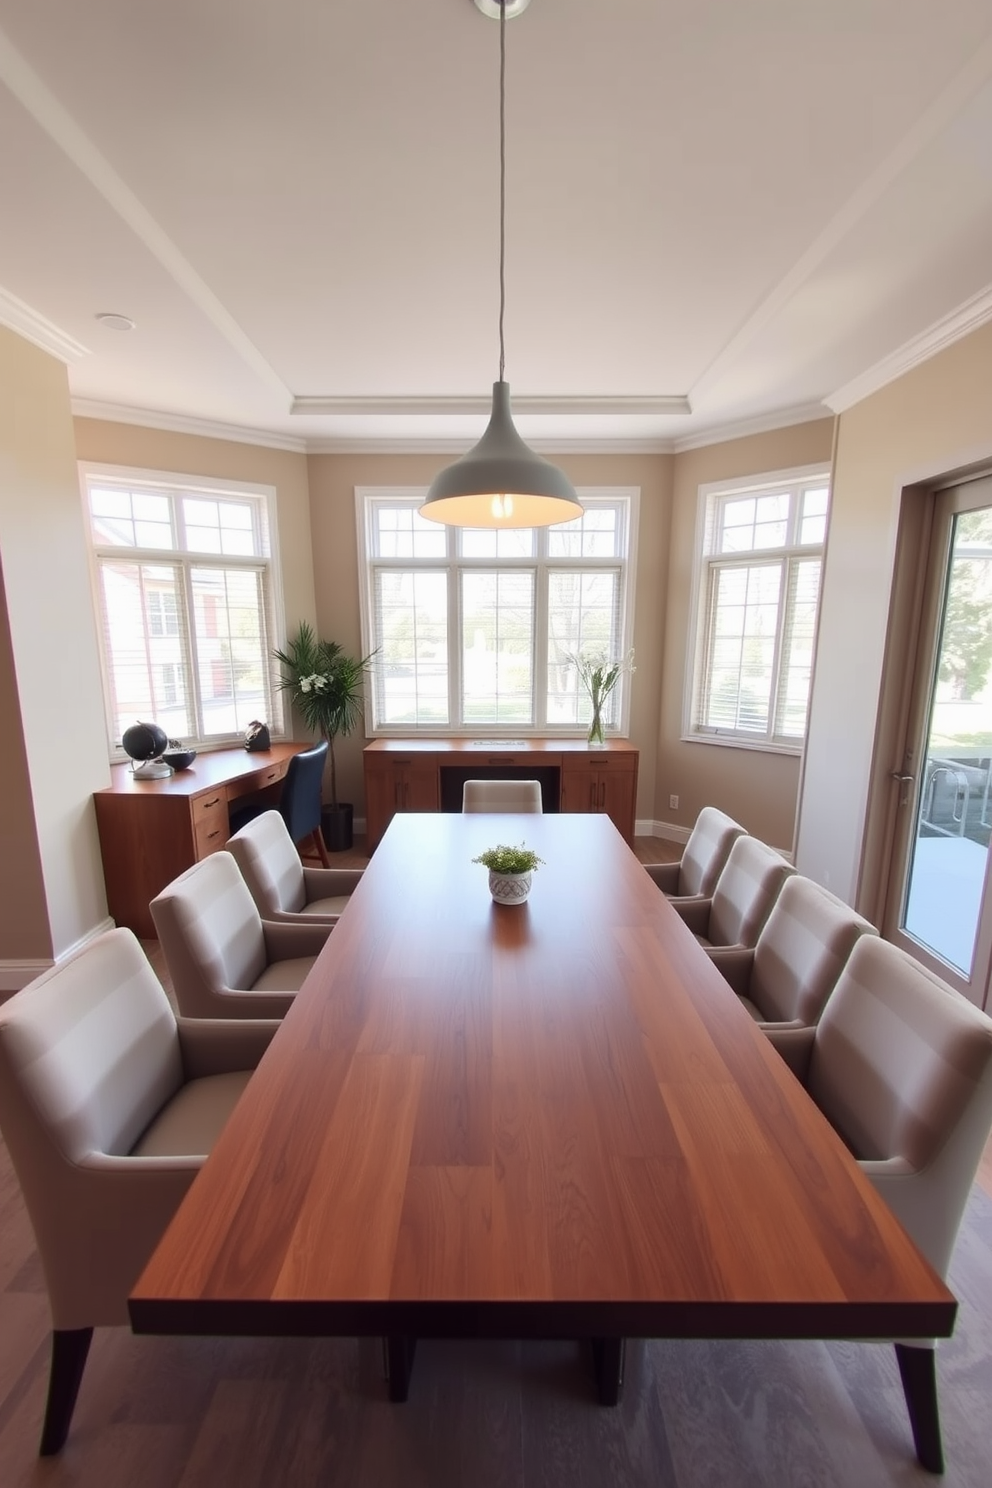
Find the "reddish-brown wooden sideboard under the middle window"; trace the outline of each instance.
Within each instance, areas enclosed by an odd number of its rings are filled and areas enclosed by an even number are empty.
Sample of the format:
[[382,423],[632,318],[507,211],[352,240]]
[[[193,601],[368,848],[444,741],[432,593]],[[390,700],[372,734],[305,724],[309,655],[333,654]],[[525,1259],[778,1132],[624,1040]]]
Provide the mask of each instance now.
[[369,851],[397,811],[460,811],[468,778],[537,778],[546,811],[602,811],[634,841],[638,750],[626,740],[375,740],[364,750]]

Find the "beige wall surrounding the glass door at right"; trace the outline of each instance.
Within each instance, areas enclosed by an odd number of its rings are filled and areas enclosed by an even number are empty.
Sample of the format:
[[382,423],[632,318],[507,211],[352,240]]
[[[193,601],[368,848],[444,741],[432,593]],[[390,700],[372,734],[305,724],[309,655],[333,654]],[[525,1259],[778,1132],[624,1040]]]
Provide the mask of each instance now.
[[992,326],[839,420],[797,863],[852,903],[877,887],[861,865],[903,490],[989,460]]

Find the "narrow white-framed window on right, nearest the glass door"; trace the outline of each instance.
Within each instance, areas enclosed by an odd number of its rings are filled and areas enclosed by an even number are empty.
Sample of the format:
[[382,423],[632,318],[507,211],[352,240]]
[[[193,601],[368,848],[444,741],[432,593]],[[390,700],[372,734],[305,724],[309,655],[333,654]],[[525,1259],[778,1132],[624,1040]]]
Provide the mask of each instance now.
[[700,490],[689,738],[802,747],[828,501],[824,470]]

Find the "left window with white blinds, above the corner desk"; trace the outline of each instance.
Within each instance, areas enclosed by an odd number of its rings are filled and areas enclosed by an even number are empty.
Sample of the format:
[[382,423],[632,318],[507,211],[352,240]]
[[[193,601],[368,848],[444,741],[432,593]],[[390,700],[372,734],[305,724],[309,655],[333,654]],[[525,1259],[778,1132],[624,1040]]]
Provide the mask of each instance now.
[[112,748],[135,719],[170,738],[278,729],[269,658],[271,493],[83,467]]

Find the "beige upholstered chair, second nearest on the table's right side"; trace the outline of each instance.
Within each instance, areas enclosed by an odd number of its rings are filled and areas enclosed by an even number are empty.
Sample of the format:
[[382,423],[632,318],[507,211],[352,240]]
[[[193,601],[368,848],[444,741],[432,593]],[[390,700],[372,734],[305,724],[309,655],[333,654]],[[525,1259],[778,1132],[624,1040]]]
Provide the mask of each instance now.
[[709,958],[761,1028],[803,1028],[819,1019],[863,934],[876,934],[875,926],[819,884],[793,873],[754,949],[712,946]]

